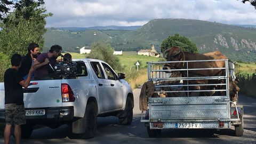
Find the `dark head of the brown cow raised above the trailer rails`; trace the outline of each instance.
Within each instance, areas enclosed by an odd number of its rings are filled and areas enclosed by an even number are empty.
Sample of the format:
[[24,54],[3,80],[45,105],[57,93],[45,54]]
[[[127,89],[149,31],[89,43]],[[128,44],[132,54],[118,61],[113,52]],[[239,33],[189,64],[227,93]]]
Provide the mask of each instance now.
[[[166,49],[163,52],[163,57],[166,59],[166,61],[181,61],[185,60],[184,54],[181,51],[181,49],[177,46],[172,46],[169,49]],[[165,63],[163,66],[163,69],[177,69],[180,66],[180,62],[175,63]],[[168,73],[168,71],[166,71]]]

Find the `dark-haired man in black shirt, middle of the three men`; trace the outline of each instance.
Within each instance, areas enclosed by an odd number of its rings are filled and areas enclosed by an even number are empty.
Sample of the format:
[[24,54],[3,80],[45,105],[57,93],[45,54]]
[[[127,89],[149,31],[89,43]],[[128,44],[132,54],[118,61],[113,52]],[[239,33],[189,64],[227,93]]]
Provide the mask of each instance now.
[[[33,58],[36,58],[38,53],[39,53],[39,45],[36,43],[30,43],[28,45],[28,53],[22,57],[21,67],[19,68],[19,74],[24,79],[27,78],[29,69],[31,68],[32,65],[34,65]],[[32,74],[32,79],[33,78],[34,78],[34,75]]]

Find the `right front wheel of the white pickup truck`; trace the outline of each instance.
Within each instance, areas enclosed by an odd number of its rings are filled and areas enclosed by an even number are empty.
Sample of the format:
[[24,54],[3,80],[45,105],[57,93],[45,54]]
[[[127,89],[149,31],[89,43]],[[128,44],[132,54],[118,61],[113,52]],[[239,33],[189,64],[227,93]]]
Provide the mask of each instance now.
[[126,103],[125,103],[125,109],[123,111],[123,114],[119,116],[119,123],[122,125],[129,125],[132,123],[132,117],[133,117],[133,108],[132,108],[132,99],[130,97],[127,97]]

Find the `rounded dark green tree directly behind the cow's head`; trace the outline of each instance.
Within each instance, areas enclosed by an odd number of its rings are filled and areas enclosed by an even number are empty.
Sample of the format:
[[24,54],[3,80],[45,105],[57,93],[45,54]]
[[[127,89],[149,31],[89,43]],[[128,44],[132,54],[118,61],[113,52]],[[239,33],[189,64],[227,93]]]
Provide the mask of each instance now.
[[186,52],[191,52],[191,53],[198,52],[198,49],[195,43],[191,42],[190,39],[188,39],[185,36],[179,36],[179,34],[175,34],[164,39],[164,41],[160,46],[161,52],[163,52],[164,50],[172,46],[178,46],[181,48],[182,51],[186,51]]

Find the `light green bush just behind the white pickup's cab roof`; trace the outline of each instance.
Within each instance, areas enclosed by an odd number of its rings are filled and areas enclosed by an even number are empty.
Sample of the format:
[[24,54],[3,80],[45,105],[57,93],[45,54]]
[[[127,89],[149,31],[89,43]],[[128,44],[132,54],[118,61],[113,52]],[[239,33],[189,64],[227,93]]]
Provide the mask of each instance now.
[[113,53],[114,49],[110,44],[98,42],[92,44],[91,53],[87,55],[87,58],[106,61],[115,70],[120,70],[122,68],[121,63]]

